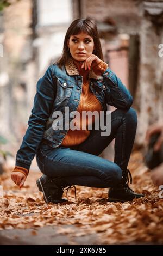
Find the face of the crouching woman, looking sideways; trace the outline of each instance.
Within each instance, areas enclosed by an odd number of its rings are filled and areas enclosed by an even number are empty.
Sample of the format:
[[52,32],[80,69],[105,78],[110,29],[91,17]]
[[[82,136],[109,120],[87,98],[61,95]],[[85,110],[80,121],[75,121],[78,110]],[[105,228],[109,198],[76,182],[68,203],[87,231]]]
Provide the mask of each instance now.
[[95,47],[93,38],[83,32],[78,35],[71,35],[67,42],[73,59],[84,62],[93,52]]

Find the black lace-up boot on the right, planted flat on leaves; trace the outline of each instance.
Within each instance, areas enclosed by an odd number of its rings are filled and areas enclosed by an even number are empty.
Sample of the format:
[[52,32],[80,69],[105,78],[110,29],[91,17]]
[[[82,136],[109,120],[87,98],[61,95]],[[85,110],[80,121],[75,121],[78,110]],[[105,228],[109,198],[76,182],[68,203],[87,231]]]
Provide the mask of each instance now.
[[128,186],[130,178],[130,183],[132,184],[132,176],[129,170],[122,170],[122,180],[116,186],[110,188],[108,192],[108,200],[110,202],[127,202],[135,198],[144,197],[143,194],[138,194],[135,191],[131,190]]

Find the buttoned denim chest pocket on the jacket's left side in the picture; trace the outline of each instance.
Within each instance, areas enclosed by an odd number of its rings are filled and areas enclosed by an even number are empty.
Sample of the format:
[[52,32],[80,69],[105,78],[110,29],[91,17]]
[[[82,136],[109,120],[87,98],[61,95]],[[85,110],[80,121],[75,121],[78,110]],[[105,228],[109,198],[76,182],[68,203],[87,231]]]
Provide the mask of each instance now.
[[64,81],[60,78],[57,78],[57,94],[56,97],[58,100],[69,99],[72,93],[74,84],[70,81]]

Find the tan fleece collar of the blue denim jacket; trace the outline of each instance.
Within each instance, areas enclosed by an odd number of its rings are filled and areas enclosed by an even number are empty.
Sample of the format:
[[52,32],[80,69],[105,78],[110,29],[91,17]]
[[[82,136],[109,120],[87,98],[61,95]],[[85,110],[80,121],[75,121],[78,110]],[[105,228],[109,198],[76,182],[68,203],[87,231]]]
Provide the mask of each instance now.
[[[79,71],[76,67],[76,65],[73,63],[73,59],[69,59],[68,60],[68,63],[65,65],[65,69],[68,73],[69,76],[74,76],[74,75],[78,75],[79,76]],[[93,70],[91,69],[90,72],[89,72],[89,79],[90,78],[93,78],[93,79],[102,79],[102,76],[98,76],[96,75]]]

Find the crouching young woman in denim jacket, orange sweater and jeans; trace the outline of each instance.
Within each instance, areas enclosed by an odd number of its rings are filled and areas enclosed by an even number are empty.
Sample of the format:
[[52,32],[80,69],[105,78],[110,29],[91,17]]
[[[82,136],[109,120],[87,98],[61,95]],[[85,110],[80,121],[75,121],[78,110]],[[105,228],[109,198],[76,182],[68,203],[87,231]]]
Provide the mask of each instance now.
[[[37,82],[29,127],[17,151],[12,180],[23,186],[36,154],[43,173],[36,183],[47,203],[65,202],[63,190],[71,185],[110,187],[112,202],[143,197],[128,186],[131,174],[127,166],[137,126],[132,103],[130,92],[103,61],[95,20],[73,21],[60,60]],[[95,119],[83,118],[82,114],[103,111],[108,126],[106,104],[117,109],[111,113],[110,134],[102,135],[101,126],[95,129]],[[78,112],[76,129],[72,127],[74,115],[68,116],[67,109]],[[86,129],[81,129],[84,124]],[[114,162],[99,157],[114,138]]]

